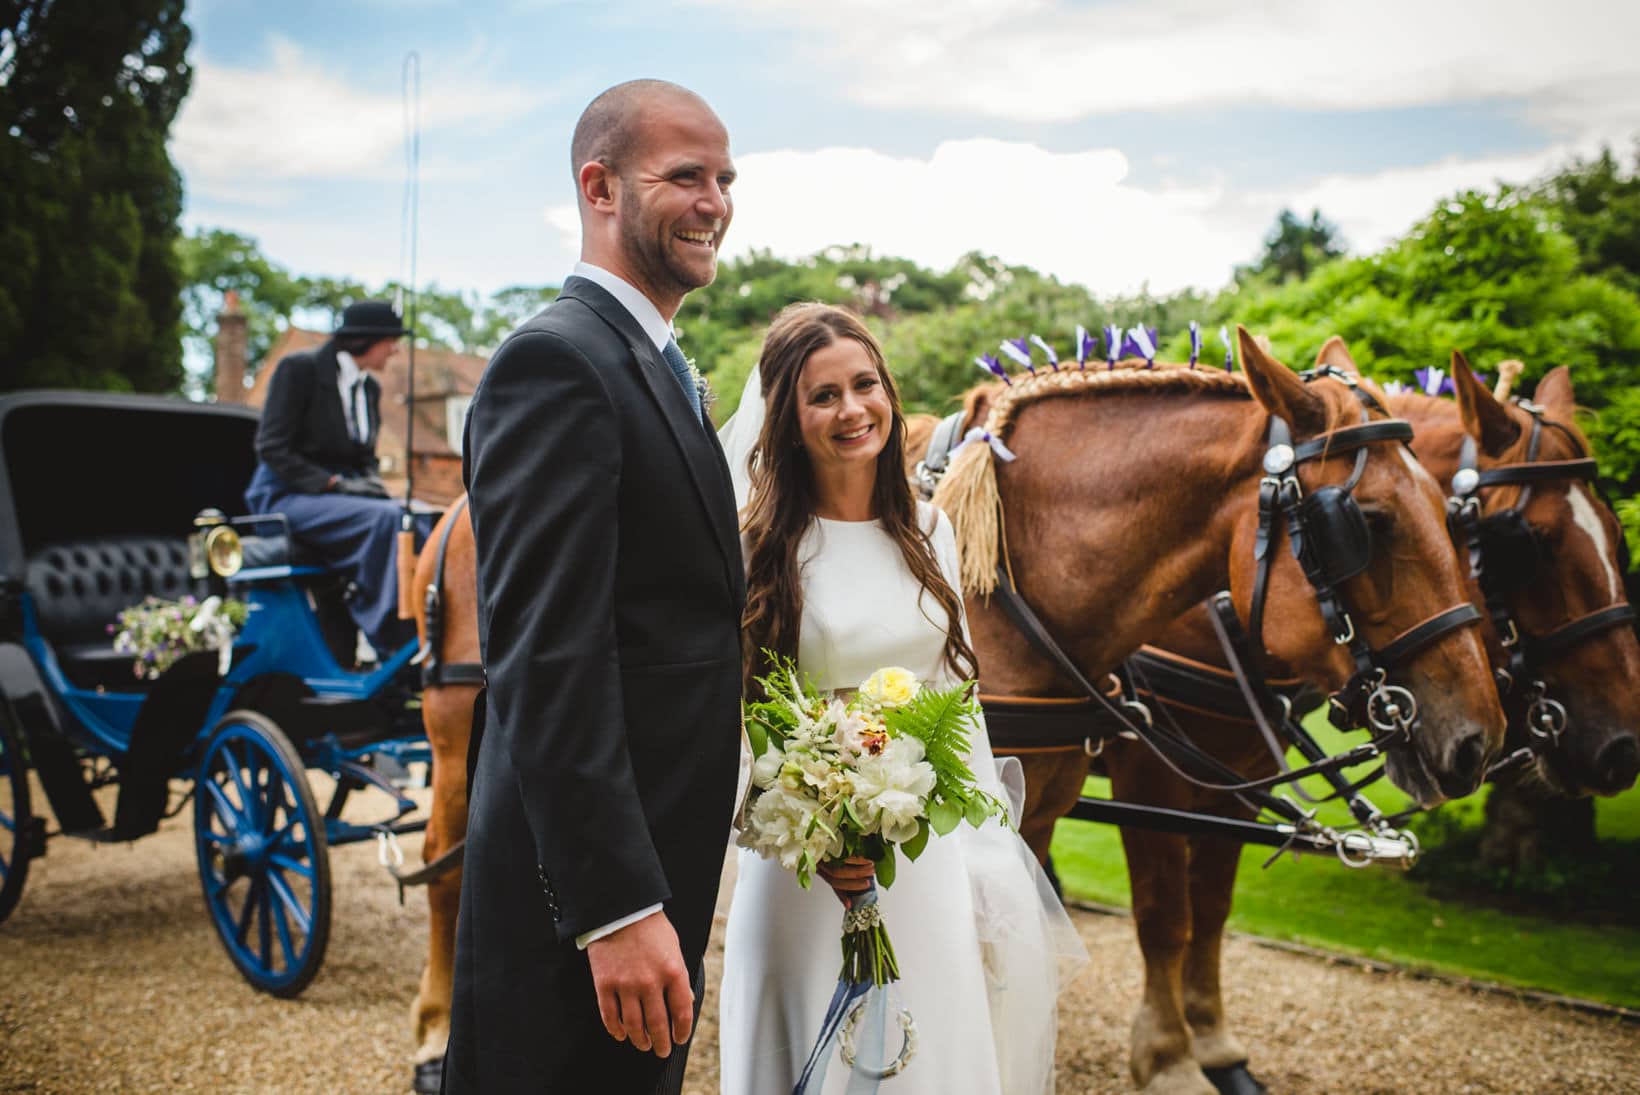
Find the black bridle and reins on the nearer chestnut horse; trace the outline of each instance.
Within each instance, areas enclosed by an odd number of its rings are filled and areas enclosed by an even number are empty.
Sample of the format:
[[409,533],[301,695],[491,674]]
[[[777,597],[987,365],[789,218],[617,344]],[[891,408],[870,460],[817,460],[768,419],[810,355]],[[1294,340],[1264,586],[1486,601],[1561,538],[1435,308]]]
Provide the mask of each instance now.
[[[1250,839],[1246,836],[1250,831],[1248,826],[1260,831],[1268,828],[1269,833],[1264,833],[1266,839],[1263,843],[1276,844],[1278,849],[1302,846],[1307,851],[1332,851],[1348,866],[1366,866],[1383,861],[1410,866],[1417,857],[1417,841],[1410,834],[1394,829],[1384,815],[1361,795],[1361,790],[1368,784],[1383,775],[1383,767],[1355,782],[1345,777],[1342,769],[1371,761],[1381,756],[1384,747],[1410,739],[1410,729],[1417,721],[1417,700],[1405,688],[1387,684],[1389,669],[1427,649],[1448,633],[1478,623],[1481,613],[1468,602],[1455,605],[1409,628],[1379,651],[1374,651],[1366,638],[1358,633],[1337,588],[1343,580],[1366,569],[1371,561],[1371,531],[1351,492],[1366,470],[1368,446],[1383,441],[1404,444],[1412,439],[1412,426],[1404,420],[1394,418],[1371,420],[1368,408],[1379,411],[1384,408],[1369,392],[1360,388],[1348,374],[1335,369],[1319,369],[1302,375],[1305,382],[1320,375],[1332,375],[1343,380],[1361,402],[1363,421],[1292,444],[1291,426],[1284,420],[1271,416],[1269,439],[1263,457],[1264,477],[1260,480],[1253,639],[1248,639],[1241,629],[1228,593],[1219,593],[1212,598],[1210,613],[1220,644],[1232,666],[1237,687],[1248,710],[1253,713],[1253,721],[1276,754],[1278,764],[1282,769],[1281,772],[1268,779],[1245,780],[1189,741],[1178,726],[1158,726],[1151,710],[1137,695],[1133,685],[1135,659],[1128,659],[1117,674],[1112,674],[1117,685],[1114,688],[1115,698],[1096,688],[1063,647],[1059,647],[1015,588],[1007,566],[1005,544],[997,566],[997,593],[1004,611],[1033,649],[1046,657],[1086,697],[1087,705],[1081,707],[1081,702],[1077,705],[1084,718],[1092,723],[1092,733],[1086,734],[1082,741],[1089,756],[1097,756],[1097,751],[1104,746],[1104,739],[1117,733],[1137,738],[1186,782],[1207,790],[1233,793],[1245,805],[1260,811],[1271,811],[1286,820],[1286,825],[1276,826],[1238,821],[1237,834],[1241,839]],[[946,418],[935,429],[928,454],[917,467],[917,482],[923,490],[928,490],[936,482],[940,470],[945,467],[950,444],[959,429],[961,413]],[[1297,467],[1314,459],[1346,452],[1356,454],[1350,479],[1343,485],[1319,487],[1314,493],[1305,495],[1297,477]],[[1333,641],[1340,646],[1348,646],[1355,661],[1355,674],[1343,688],[1328,697],[1332,720],[1335,725],[1342,723],[1343,728],[1366,725],[1376,731],[1371,741],[1343,754],[1327,756],[1325,749],[1315,743],[1309,731],[1291,716],[1291,700],[1276,693],[1256,667],[1256,651],[1261,649],[1263,639],[1264,600],[1269,572],[1274,564],[1273,548],[1282,528],[1289,538],[1294,557],[1315,590],[1317,605]],[[1189,675],[1189,670],[1184,672]],[[1219,685],[1217,680],[1212,680],[1212,684]],[[1009,718],[1018,716],[1022,708],[1038,703],[1020,698],[1009,702],[1004,697],[991,700],[992,703],[1002,700],[1002,710],[1007,711]],[[1276,715],[1278,710],[1279,715]],[[1066,715],[1071,715],[1071,710],[1061,707],[1053,710],[1053,715],[1063,729],[1068,723]],[[1168,721],[1173,721],[1171,715]],[[1287,769],[1284,749],[1276,736],[1276,728],[1271,725],[1273,721],[1279,726],[1281,734],[1309,761],[1307,766]],[[1097,749],[1096,741],[1099,743]],[[1273,787],[1294,784],[1307,775],[1325,777],[1333,787],[1333,793],[1328,798],[1345,800],[1363,829],[1335,833],[1315,821],[1314,810],[1302,810],[1291,800],[1269,793]],[[1299,788],[1294,787],[1294,790]],[[1140,808],[1133,803],[1084,798],[1077,810],[1073,811],[1073,816],[1194,833],[1225,831],[1227,823],[1225,818],[1214,815],[1164,811],[1176,816],[1159,818],[1151,816],[1155,813],[1155,810]]]

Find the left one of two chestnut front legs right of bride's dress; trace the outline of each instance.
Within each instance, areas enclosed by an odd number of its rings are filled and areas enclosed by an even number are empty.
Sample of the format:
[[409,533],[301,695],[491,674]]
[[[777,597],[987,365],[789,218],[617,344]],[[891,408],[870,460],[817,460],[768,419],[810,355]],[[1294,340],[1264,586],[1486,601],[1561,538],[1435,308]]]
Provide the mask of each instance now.
[[[1110,743],[1110,793],[1120,802],[1179,808],[1187,795],[1143,746]],[[1145,997],[1133,1016],[1128,1067],[1146,1095],[1215,1095],[1191,1056],[1182,969],[1191,943],[1189,844],[1182,836],[1122,829],[1133,926],[1145,957]]]

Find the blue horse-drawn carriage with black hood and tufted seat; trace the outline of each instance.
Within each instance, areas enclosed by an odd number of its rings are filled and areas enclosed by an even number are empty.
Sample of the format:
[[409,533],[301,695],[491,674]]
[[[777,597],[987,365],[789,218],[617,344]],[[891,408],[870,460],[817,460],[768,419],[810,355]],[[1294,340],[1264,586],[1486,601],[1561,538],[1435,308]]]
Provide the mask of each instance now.
[[[133,841],[192,797],[212,923],[246,980],[290,997],[325,957],[326,847],[421,828],[392,775],[430,752],[417,644],[354,669],[346,582],[279,518],[244,515],[256,423],[157,397],[0,397],[0,921],[48,836]],[[210,595],[249,605],[228,657],[148,680],[115,649],[110,623],[144,597]],[[310,769],[335,787],[323,810]],[[115,784],[108,820],[93,792]],[[372,787],[385,816],[343,820]]]

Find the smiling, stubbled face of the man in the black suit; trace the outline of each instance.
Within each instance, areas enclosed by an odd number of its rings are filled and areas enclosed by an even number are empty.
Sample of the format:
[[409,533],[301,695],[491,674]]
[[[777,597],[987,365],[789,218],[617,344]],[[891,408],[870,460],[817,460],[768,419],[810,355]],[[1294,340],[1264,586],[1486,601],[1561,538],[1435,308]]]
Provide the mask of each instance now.
[[[692,98],[648,103],[620,172],[620,246],[640,289],[674,308],[717,277],[717,252],[735,216],[728,131]],[[663,308],[664,311],[664,308]]]

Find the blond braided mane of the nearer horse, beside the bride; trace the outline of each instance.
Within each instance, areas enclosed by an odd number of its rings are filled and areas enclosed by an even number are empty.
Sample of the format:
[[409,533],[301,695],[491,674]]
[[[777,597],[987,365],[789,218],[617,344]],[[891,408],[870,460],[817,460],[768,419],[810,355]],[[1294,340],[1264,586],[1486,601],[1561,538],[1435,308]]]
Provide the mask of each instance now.
[[[1189,369],[1186,366],[1158,364],[1148,367],[1143,361],[1118,362],[1115,369],[1038,369],[1033,375],[1015,377],[1000,387],[986,418],[986,431],[1007,441],[1014,418],[1032,403],[1048,398],[1076,395],[1122,393],[1219,393],[1251,398],[1241,374],[1219,369]],[[963,593],[991,593],[997,587],[997,552],[1000,538],[1000,498],[997,493],[997,469],[991,448],[969,444],[951,462],[940,480],[933,503],[945,510],[956,531],[956,551],[961,559]]]

